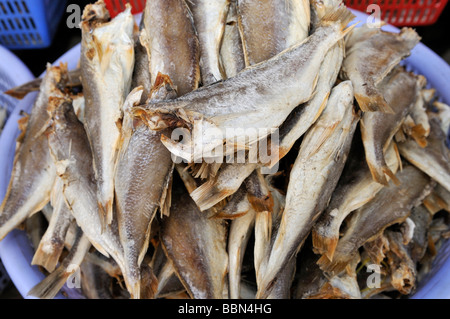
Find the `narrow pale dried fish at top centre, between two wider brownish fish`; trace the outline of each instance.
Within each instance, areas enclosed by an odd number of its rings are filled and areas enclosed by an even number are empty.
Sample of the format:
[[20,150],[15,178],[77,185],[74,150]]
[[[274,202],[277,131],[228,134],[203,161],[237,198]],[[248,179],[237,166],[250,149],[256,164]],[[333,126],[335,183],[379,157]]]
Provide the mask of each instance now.
[[220,63],[220,48],[230,0],[189,0],[187,3],[200,43],[202,84],[207,86],[226,78]]

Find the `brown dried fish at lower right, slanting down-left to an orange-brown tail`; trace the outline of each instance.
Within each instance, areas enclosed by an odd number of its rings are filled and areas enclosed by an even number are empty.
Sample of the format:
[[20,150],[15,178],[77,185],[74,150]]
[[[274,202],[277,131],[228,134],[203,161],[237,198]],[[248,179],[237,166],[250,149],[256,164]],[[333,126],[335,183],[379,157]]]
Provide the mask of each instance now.
[[321,269],[331,274],[343,271],[359,247],[377,238],[387,227],[403,222],[410,215],[411,209],[420,205],[432,189],[430,178],[412,165],[399,171],[397,178],[399,185],[389,183],[373,200],[350,216],[333,259],[330,260],[326,255],[319,259]]

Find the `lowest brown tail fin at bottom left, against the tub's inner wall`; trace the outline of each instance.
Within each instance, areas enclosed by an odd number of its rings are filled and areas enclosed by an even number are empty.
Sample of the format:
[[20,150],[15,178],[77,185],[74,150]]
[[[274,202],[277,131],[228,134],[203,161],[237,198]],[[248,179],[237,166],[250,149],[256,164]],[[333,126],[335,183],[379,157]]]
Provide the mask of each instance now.
[[71,271],[64,266],[58,267],[54,272],[48,275],[44,280],[34,286],[28,296],[39,299],[53,299],[64,286],[69,277],[74,274],[76,268]]

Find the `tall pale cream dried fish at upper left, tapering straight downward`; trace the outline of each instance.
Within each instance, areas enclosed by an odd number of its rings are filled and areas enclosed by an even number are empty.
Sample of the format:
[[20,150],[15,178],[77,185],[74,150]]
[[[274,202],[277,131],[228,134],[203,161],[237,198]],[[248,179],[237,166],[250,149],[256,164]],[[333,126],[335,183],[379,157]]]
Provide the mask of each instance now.
[[103,2],[86,6],[80,60],[86,103],[84,124],[93,150],[99,213],[104,225],[112,221],[119,124],[135,62],[131,7],[110,22],[108,18]]

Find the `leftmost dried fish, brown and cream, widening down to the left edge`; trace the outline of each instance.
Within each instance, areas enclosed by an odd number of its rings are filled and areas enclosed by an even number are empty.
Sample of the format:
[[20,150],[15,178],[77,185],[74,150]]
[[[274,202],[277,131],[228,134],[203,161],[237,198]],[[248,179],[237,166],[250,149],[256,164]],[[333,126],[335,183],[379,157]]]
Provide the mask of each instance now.
[[22,127],[11,179],[0,207],[0,240],[50,201],[56,170],[44,134],[50,120],[47,107],[49,98],[54,99],[54,104],[58,103],[57,99],[64,98],[58,87],[64,87],[66,75],[65,66],[47,66],[40,93],[26,127]]

